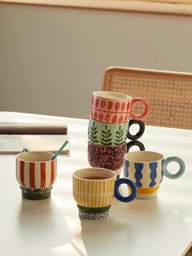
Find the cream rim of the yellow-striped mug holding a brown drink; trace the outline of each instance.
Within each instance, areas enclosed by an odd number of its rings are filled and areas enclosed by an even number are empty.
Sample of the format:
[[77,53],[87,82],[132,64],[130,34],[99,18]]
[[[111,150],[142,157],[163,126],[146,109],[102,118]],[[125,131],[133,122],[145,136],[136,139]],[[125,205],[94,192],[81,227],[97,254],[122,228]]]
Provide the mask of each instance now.
[[[96,170],[97,172],[99,170],[101,170],[101,171],[103,170],[103,174],[107,174],[107,173],[111,174],[111,177],[107,177],[106,179],[85,179],[85,178],[77,176],[77,174],[79,172],[86,171],[86,170],[90,170],[90,174],[91,174],[91,172],[93,172],[93,170]],[[88,168],[82,168],[82,169],[75,170],[74,173],[72,174],[72,177],[74,177],[75,179],[83,179],[83,180],[87,180],[87,181],[102,181],[102,180],[114,179],[116,177],[116,173],[114,171],[106,169],[106,168],[88,167]]]

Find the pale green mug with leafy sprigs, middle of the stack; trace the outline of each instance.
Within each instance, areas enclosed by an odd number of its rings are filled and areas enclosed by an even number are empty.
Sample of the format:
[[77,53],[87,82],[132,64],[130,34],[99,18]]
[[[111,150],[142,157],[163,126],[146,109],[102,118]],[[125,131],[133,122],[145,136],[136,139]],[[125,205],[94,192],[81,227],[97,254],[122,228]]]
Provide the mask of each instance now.
[[[139,126],[136,135],[131,135],[129,128],[133,124]],[[125,143],[126,139],[138,139],[145,130],[145,124],[142,121],[130,120],[123,124],[107,124],[101,121],[95,121],[89,117],[88,138],[90,143],[113,146]]]

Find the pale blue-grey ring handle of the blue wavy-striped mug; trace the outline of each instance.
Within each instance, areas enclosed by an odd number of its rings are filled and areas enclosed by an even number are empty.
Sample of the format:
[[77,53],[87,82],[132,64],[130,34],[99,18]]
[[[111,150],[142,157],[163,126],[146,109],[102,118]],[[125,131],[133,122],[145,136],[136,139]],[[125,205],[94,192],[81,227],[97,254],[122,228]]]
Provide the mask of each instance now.
[[[176,174],[171,174],[168,171],[168,164],[171,163],[172,161],[176,161],[177,164],[179,164],[180,169],[177,171]],[[164,161],[164,176],[167,177],[168,179],[178,179],[181,177],[181,175],[185,171],[185,162],[180,158],[180,157],[168,157]]]

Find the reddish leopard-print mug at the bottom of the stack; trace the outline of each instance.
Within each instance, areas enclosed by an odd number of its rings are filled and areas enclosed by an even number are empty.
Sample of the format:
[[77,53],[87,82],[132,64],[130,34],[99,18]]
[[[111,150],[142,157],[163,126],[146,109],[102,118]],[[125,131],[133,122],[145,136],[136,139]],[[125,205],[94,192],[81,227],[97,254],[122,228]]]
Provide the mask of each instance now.
[[107,168],[115,171],[116,174],[120,174],[124,165],[124,154],[129,152],[129,149],[133,146],[137,146],[140,150],[145,150],[144,145],[137,140],[114,146],[103,146],[88,142],[89,165]]

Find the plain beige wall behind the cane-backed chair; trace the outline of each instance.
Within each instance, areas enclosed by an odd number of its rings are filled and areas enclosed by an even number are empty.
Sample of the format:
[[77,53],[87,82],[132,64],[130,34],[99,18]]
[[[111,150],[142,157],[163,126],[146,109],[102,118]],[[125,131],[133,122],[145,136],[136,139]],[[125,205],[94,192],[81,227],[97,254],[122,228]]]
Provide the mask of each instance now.
[[0,4],[0,110],[89,117],[112,65],[192,72],[192,16]]

